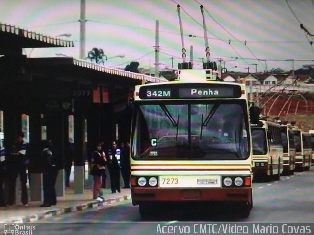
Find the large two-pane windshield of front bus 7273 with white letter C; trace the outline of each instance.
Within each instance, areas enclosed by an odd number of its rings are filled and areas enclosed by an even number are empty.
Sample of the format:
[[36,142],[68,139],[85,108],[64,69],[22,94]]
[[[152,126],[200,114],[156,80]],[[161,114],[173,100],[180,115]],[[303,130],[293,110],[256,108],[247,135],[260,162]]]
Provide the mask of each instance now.
[[137,103],[131,154],[137,159],[238,160],[250,155],[245,101]]

